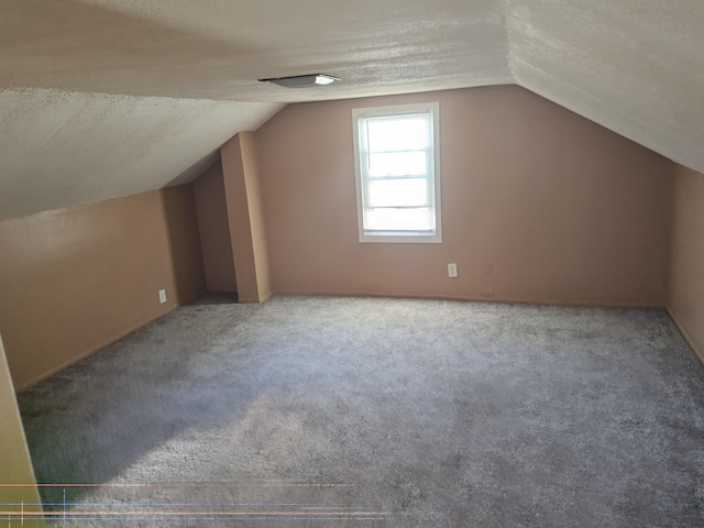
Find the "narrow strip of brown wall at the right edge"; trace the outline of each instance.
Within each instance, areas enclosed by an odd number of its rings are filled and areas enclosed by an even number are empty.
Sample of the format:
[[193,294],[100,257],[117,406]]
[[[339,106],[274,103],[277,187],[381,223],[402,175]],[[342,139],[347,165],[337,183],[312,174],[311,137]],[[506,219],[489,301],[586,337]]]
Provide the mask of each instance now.
[[704,362],[704,174],[678,166],[668,302]]

